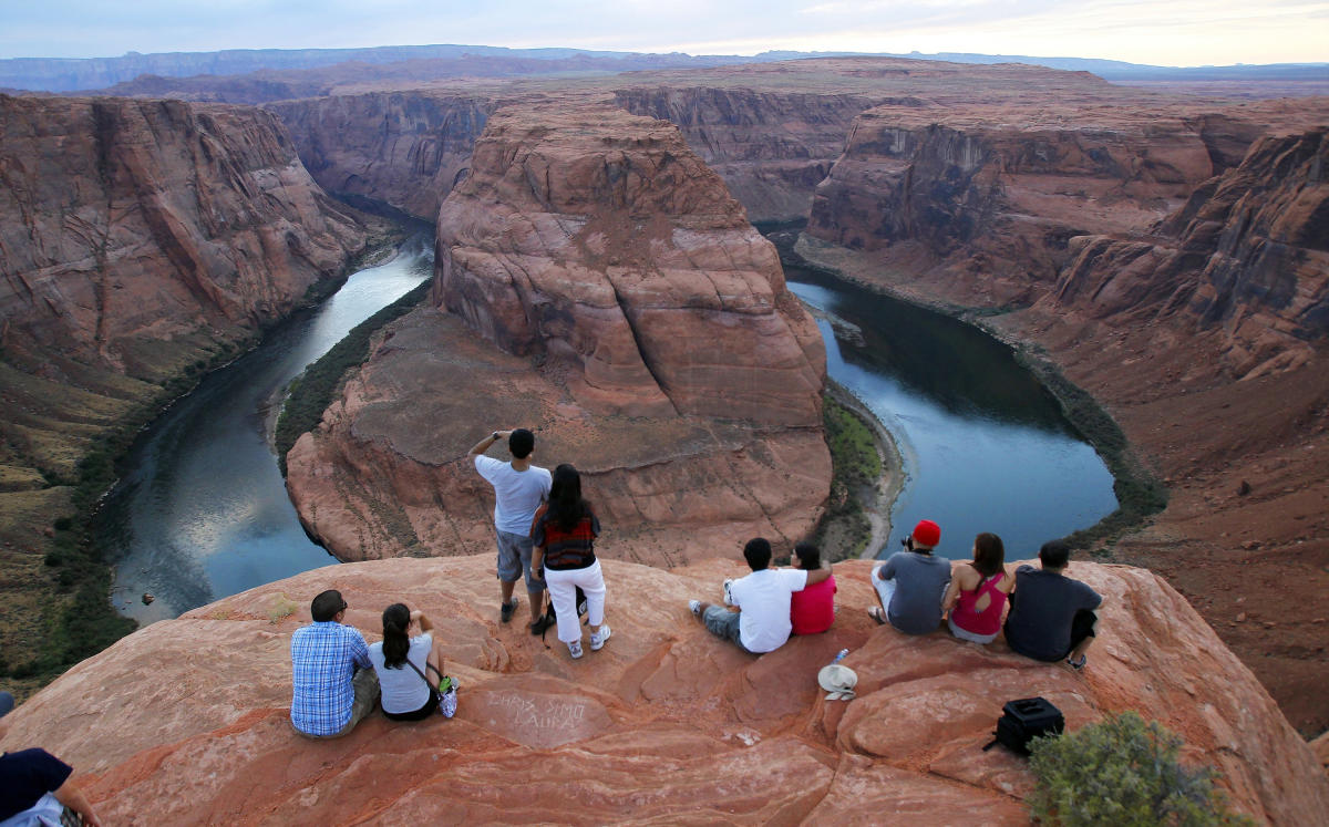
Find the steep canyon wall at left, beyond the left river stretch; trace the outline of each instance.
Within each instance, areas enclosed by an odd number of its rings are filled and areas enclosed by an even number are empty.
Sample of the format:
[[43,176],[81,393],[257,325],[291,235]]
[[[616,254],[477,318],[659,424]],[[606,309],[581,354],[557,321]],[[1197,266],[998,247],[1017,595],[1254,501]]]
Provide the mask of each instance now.
[[0,655],[21,665],[84,577],[49,553],[88,457],[336,279],[371,229],[258,110],[0,96]]

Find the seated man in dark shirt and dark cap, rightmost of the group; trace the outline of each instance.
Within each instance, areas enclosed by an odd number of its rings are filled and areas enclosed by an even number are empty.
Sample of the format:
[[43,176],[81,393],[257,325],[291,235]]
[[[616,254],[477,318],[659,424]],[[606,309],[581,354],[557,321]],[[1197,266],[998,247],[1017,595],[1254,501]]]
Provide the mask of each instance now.
[[1026,658],[1046,662],[1066,658],[1073,669],[1084,669],[1098,625],[1094,610],[1103,598],[1087,584],[1066,577],[1070,558],[1071,548],[1053,540],[1038,549],[1042,569],[1027,564],[1015,569],[1006,642]]

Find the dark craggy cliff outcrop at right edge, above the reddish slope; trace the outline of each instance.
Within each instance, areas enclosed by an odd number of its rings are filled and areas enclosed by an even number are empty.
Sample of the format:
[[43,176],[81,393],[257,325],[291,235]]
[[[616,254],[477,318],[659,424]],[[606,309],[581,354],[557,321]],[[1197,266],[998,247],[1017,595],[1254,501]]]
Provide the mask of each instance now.
[[1269,137],[1146,238],[1071,241],[1058,306],[1112,324],[1220,328],[1236,376],[1305,363],[1329,334],[1329,133]]

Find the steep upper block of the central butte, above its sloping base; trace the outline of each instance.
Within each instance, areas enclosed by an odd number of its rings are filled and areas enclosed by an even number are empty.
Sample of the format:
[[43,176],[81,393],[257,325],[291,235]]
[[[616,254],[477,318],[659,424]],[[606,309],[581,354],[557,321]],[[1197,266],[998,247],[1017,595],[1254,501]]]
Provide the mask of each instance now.
[[439,213],[435,267],[441,304],[504,351],[566,364],[587,407],[820,423],[821,335],[671,124],[496,114]]

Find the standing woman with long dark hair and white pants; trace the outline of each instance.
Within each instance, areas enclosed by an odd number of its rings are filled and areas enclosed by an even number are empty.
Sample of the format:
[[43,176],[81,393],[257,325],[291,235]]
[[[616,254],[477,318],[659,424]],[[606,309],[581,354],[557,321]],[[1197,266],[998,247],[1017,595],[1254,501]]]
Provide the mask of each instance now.
[[573,659],[582,657],[578,588],[586,596],[586,622],[591,628],[590,650],[599,651],[611,634],[605,622],[605,573],[595,558],[598,536],[599,517],[581,496],[581,473],[563,463],[554,468],[549,505],[536,512],[536,521],[530,527],[536,546],[530,568],[534,576],[544,572],[558,622],[558,640],[567,645]]

